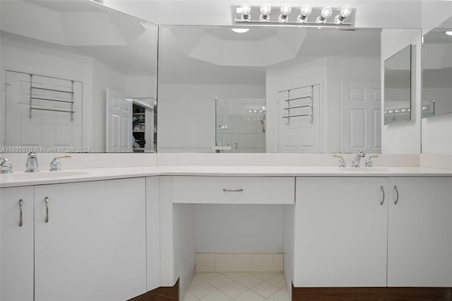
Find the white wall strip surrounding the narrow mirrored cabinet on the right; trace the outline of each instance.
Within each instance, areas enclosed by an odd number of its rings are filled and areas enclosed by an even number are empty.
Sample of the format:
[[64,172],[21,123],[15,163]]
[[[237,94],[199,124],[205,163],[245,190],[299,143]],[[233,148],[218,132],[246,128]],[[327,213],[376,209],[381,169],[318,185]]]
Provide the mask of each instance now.
[[[386,29],[381,32],[381,99],[384,100],[384,61],[408,45],[415,45],[412,59],[411,121],[383,125],[381,129],[381,153],[420,153],[420,74],[421,35],[420,30]],[[383,101],[384,102],[384,101]],[[384,103],[381,102],[381,112]],[[384,116],[381,114],[381,124]]]

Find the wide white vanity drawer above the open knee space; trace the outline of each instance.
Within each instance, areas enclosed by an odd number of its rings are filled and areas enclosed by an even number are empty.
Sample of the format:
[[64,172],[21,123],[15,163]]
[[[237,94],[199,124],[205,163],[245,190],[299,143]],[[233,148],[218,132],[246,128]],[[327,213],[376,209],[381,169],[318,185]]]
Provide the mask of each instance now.
[[173,203],[295,203],[295,177],[172,177]]

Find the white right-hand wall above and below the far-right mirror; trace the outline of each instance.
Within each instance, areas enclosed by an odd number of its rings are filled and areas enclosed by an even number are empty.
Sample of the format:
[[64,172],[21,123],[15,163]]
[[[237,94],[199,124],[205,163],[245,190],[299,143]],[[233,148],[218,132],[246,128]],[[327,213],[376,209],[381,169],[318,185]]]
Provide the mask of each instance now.
[[[422,1],[422,34],[452,16],[452,1]],[[452,153],[452,114],[422,119],[422,153]]]

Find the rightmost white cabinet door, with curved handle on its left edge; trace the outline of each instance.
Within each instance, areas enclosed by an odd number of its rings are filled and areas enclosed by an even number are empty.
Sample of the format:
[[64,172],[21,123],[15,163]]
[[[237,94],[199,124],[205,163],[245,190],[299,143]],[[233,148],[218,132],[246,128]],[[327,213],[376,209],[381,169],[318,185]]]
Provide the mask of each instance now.
[[389,191],[388,286],[451,287],[452,177],[390,178]]

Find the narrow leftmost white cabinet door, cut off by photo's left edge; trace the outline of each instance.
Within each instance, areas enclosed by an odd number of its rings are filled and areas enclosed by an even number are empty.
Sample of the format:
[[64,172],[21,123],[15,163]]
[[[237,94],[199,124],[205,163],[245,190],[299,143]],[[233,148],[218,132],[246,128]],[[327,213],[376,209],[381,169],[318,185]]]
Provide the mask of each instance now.
[[33,300],[33,206],[33,187],[0,189],[2,301]]

